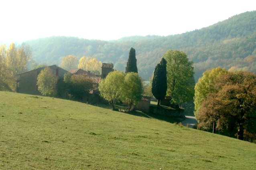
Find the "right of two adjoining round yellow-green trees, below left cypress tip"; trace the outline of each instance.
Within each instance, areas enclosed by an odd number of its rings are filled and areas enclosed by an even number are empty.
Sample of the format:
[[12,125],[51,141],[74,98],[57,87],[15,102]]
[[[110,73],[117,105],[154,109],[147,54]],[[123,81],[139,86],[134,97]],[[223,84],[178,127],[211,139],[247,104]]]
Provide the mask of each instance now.
[[124,84],[122,89],[122,101],[128,102],[128,112],[132,106],[141,100],[142,96],[142,82],[138,73],[128,72],[124,77]]

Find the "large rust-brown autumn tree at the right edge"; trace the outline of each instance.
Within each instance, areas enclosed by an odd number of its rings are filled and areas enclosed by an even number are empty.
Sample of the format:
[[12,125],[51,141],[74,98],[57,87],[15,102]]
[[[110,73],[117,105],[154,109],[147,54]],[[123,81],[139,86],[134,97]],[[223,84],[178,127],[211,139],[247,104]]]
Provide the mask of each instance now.
[[228,136],[251,140],[256,133],[256,74],[222,74],[216,79],[215,89],[197,113],[198,129],[209,130],[216,124],[216,129]]

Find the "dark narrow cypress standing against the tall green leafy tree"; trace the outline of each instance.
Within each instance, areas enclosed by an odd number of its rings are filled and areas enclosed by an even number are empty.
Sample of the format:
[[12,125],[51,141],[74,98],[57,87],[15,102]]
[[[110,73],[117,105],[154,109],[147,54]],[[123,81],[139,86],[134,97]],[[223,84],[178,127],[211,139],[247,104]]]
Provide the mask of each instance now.
[[152,94],[158,100],[157,106],[160,106],[160,100],[163,100],[167,91],[167,70],[166,60],[162,58],[161,62],[154,69],[152,80]]

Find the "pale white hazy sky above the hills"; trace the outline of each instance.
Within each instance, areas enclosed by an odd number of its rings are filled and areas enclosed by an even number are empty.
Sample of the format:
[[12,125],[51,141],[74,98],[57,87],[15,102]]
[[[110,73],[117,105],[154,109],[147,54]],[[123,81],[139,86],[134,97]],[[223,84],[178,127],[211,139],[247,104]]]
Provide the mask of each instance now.
[[256,10],[255,0],[1,0],[0,42],[168,36]]

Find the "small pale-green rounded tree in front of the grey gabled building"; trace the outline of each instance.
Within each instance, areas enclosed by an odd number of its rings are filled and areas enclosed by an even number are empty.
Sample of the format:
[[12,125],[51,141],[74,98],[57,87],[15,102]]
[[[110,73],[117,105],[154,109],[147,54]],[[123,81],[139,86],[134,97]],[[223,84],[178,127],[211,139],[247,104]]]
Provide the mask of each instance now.
[[43,95],[53,95],[57,93],[57,76],[54,74],[51,68],[46,67],[37,76],[37,86],[39,92]]

